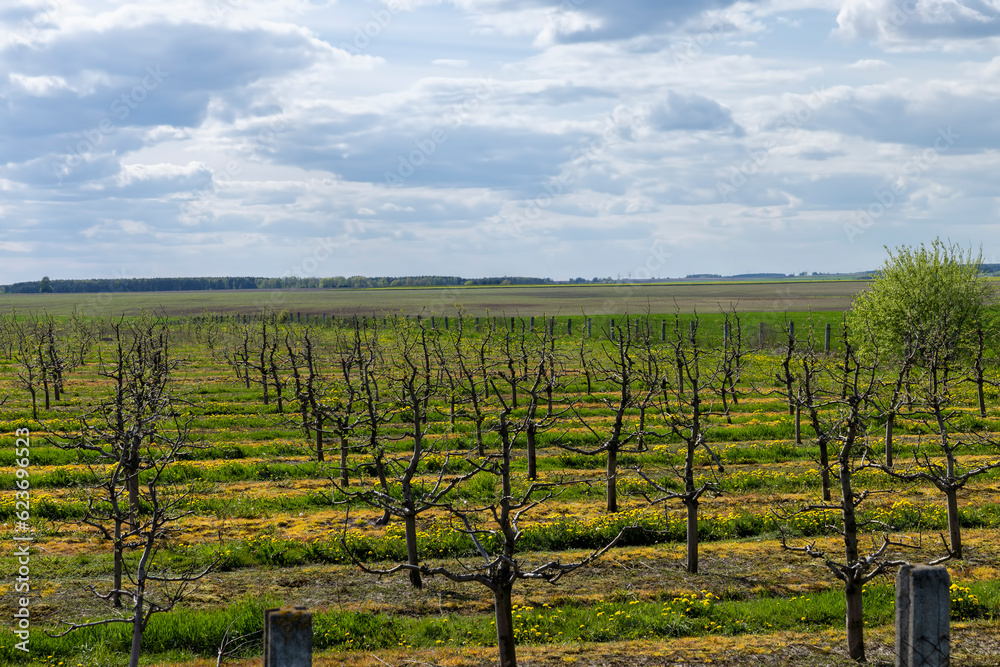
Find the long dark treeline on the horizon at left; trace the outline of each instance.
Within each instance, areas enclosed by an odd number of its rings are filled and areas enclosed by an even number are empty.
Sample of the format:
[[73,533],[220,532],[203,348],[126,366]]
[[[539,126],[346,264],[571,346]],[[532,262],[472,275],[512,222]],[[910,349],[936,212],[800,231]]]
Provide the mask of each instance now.
[[546,285],[550,278],[458,278],[455,276],[406,276],[401,278],[88,278],[82,280],[31,280],[0,285],[0,294],[60,294],[80,292],[169,292],[233,289],[363,289],[369,287],[433,287],[454,285]]

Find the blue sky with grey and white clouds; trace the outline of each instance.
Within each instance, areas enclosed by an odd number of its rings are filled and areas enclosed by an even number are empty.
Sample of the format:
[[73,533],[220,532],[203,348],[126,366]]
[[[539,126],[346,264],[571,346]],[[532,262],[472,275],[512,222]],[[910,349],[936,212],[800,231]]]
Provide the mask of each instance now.
[[1000,0],[4,0],[0,283],[1000,262]]

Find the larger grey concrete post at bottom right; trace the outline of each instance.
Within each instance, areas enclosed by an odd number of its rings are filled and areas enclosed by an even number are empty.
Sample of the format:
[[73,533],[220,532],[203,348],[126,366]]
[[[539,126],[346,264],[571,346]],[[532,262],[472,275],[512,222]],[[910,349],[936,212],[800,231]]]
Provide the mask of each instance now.
[[896,667],[948,667],[951,577],[944,567],[904,565],[896,575]]

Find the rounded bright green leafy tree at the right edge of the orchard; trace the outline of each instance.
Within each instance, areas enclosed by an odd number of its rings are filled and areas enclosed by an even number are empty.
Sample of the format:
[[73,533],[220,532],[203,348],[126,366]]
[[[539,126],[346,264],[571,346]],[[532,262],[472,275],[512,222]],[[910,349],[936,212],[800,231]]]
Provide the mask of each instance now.
[[980,273],[982,253],[940,239],[886,250],[885,266],[848,313],[860,349],[918,359],[970,350],[993,295]]

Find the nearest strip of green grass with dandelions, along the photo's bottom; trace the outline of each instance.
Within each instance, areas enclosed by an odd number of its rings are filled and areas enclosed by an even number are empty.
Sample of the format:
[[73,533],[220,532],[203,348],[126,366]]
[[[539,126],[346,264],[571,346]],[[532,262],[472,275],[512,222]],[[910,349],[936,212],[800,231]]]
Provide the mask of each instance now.
[[[483,597],[487,592],[482,589]],[[894,618],[891,584],[865,588],[865,623],[883,626]],[[1000,614],[1000,582],[960,583],[952,587],[954,620],[996,619]],[[146,659],[214,657],[227,629],[230,635],[256,637],[263,629],[265,608],[281,606],[276,598],[236,600],[224,610],[178,609],[156,615],[143,635]],[[628,599],[593,605],[521,605],[514,608],[515,639],[520,645],[567,642],[611,642],[702,635],[769,634],[781,630],[815,630],[843,624],[844,595],[828,589],[791,597],[720,599],[706,591],[665,594],[660,600]],[[441,614],[408,617],[384,613],[319,611],[313,614],[313,647],[317,650],[374,651],[393,647],[495,646],[495,621],[484,614]],[[14,649],[10,630],[0,630],[0,660],[25,664],[29,657]],[[115,624],[51,638],[34,628],[31,650],[48,656],[45,664],[108,667],[123,664],[131,644],[130,627]],[[259,653],[251,643],[242,655]]]

